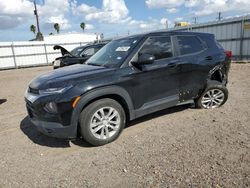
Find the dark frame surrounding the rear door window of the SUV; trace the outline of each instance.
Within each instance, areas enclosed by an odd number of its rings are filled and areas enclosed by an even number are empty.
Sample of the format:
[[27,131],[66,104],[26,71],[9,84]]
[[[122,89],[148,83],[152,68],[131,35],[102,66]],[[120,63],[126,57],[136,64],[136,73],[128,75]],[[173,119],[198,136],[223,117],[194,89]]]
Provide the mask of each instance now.
[[[200,51],[197,51],[197,52],[181,54],[180,46],[179,46],[179,43],[178,43],[178,37],[183,37],[183,36],[184,37],[196,37],[200,41],[202,49]],[[200,53],[202,53],[202,52],[204,52],[205,50],[208,49],[207,44],[197,35],[191,35],[191,34],[190,35],[174,35],[173,39],[174,39],[174,45],[175,45],[175,48],[176,48],[177,57],[185,57],[185,56],[188,56],[188,55],[200,54]]]

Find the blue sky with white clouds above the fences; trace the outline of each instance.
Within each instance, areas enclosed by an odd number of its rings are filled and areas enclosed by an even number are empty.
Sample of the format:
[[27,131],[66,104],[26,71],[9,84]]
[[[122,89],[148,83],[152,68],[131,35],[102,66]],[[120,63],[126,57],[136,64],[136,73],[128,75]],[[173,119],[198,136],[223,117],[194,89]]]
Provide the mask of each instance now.
[[[230,18],[250,13],[249,0],[36,0],[43,35],[83,32],[122,36],[173,27],[175,22],[214,21],[218,13]],[[0,0],[0,41],[34,38],[32,0]]]

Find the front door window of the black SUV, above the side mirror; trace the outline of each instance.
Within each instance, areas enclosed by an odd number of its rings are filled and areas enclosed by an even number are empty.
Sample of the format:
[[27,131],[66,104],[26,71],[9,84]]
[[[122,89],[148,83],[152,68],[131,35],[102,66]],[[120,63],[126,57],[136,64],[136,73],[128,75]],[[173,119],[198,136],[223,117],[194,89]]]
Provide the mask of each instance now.
[[173,57],[170,37],[150,37],[141,48],[140,54],[152,54],[155,59]]

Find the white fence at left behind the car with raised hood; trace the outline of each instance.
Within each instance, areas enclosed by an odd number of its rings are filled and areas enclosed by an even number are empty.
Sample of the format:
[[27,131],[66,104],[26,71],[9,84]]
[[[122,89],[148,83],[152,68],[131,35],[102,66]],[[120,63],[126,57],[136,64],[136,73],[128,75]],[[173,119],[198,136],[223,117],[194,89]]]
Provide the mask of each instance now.
[[0,70],[29,66],[49,65],[61,56],[54,45],[61,45],[67,50],[85,45],[86,42],[46,44],[44,42],[4,42],[0,43]]

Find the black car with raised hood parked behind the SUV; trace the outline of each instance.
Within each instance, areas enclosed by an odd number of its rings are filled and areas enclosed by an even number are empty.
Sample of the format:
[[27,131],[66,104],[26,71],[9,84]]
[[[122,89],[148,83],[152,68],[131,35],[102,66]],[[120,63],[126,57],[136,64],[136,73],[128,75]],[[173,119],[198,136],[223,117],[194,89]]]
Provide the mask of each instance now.
[[62,57],[58,57],[52,62],[54,69],[74,64],[83,64],[107,43],[108,42],[87,44],[74,48],[71,52],[68,52],[62,46],[56,45],[54,46],[54,50],[60,49]]

